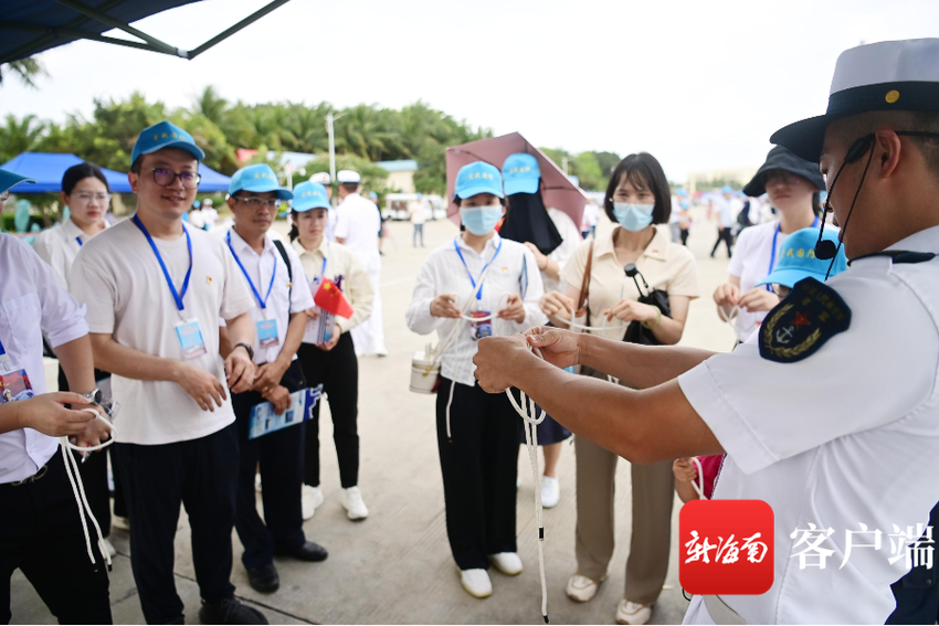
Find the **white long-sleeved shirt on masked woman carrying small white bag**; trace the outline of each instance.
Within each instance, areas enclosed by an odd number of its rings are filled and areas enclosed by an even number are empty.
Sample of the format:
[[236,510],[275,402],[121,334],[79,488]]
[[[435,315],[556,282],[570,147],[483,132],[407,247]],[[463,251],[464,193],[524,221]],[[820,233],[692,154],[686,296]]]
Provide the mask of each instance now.
[[[463,261],[453,246],[454,241],[460,246],[460,252],[466,261]],[[494,255],[502,243],[498,256]],[[523,244],[504,240],[498,234],[486,242],[483,253],[479,254],[463,241],[462,236],[450,240],[431,253],[421,265],[418,273],[418,282],[414,284],[414,295],[411,306],[408,307],[405,318],[408,328],[418,335],[430,335],[434,330],[442,341],[450,335],[454,323],[462,326],[443,352],[441,362],[441,374],[452,381],[473,386],[476,379],[473,372],[473,357],[476,356],[478,341],[471,336],[470,322],[452,318],[433,317],[431,315],[431,303],[441,294],[456,294],[456,307],[461,310],[466,300],[475,297],[476,289],[470,282],[468,272],[477,282],[483,274],[483,267],[493,262],[493,267],[486,275],[483,284],[482,299],[474,304],[473,309],[485,310],[496,314],[506,305],[506,295],[516,294],[523,297],[525,306],[525,320],[521,323],[507,319],[493,319],[493,335],[505,337],[516,332],[528,330],[532,326],[539,326],[548,321],[547,316],[541,312],[538,300],[545,294],[541,285],[541,273],[535,263],[535,255]],[[523,286],[527,283],[525,294]]]

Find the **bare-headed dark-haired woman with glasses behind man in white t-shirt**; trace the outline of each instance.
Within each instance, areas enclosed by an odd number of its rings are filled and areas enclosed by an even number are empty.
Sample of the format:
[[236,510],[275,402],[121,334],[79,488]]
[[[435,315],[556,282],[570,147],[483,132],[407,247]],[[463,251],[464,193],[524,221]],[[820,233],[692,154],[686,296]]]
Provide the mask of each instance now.
[[[107,227],[104,216],[110,203],[110,188],[101,168],[94,163],[72,166],[62,174],[62,205],[70,209],[70,214],[61,224],[46,229],[36,235],[33,250],[40,258],[46,262],[59,284],[68,289],[68,274],[72,264],[78,256],[82,245]],[[107,372],[95,370],[95,381],[102,382],[108,378]],[[65,370],[59,367],[59,390],[68,391],[68,379]],[[108,494],[107,457],[112,450],[91,455],[81,464],[82,481],[85,485],[85,496],[92,506],[95,519],[102,527],[107,550],[112,556],[116,554],[114,545],[108,541],[110,535],[110,496]],[[125,517],[124,498],[115,480],[115,514]]]

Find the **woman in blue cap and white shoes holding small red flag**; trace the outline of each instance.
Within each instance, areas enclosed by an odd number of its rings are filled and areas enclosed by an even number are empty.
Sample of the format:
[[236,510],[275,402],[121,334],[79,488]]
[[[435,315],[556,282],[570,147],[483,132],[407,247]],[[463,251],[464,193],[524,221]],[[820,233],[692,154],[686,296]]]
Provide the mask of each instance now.
[[[359,489],[359,362],[349,330],[371,315],[374,293],[365,267],[355,255],[342,244],[324,236],[331,212],[326,189],[315,182],[298,184],[291,209],[291,241],[312,288],[318,290],[324,278],[328,278],[342,290],[354,310],[349,318],[336,317],[333,327],[320,336],[317,327],[325,314],[317,307],[307,322],[297,358],[307,384],[321,384],[323,393],[329,399],[342,507],[350,520],[363,520],[368,517],[368,507]],[[319,403],[313,407],[313,417],[306,423],[304,482],[303,517],[310,519],[326,499],[319,484]]]

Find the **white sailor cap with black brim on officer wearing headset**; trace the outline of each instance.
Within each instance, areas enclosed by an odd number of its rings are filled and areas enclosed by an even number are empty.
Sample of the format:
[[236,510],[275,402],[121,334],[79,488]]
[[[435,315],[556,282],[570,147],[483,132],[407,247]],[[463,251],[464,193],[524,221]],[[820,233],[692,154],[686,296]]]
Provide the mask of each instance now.
[[872,110],[939,112],[939,39],[885,41],[842,52],[825,115],[790,124],[770,141],[817,162],[830,121]]

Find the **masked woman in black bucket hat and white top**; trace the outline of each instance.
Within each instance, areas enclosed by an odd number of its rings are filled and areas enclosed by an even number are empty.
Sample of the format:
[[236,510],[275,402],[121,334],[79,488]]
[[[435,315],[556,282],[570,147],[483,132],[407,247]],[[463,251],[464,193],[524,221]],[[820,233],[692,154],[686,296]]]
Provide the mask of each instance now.
[[817,166],[782,146],[769,151],[766,162],[743,188],[743,193],[751,198],[768,194],[780,219],[740,233],[737,252],[727,269],[730,276],[714,291],[717,314],[721,319],[734,319],[738,341],[747,339],[767,311],[779,304],[779,296],[768,285],[757,282],[776,268],[788,235],[801,229],[819,227],[815,204],[819,191],[824,188]]

